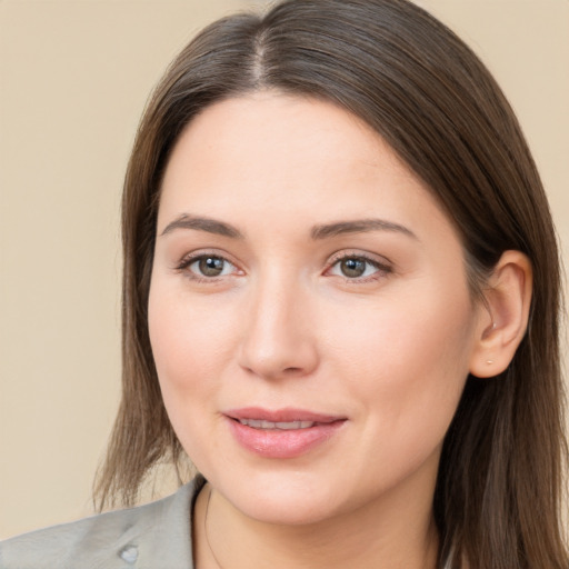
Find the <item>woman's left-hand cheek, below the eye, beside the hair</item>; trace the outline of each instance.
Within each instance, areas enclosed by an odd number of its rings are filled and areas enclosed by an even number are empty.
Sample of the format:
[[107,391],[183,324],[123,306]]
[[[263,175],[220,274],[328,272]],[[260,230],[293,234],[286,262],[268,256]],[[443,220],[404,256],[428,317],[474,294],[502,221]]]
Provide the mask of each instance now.
[[162,399],[183,449],[200,466],[214,456],[217,439],[201,435],[219,420],[220,378],[234,343],[234,318],[220,319],[218,309],[219,302],[217,308],[208,300],[190,302],[160,282],[151,288],[149,333]]

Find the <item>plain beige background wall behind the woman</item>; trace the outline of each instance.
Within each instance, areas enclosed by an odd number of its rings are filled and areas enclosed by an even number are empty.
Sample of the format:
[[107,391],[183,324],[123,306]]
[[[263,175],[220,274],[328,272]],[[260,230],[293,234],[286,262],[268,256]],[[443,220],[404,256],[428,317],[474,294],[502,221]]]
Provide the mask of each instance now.
[[[567,263],[569,0],[418,3],[512,101]],[[0,538],[91,512],[119,396],[118,204],[134,129],[187,40],[251,4],[0,0]]]

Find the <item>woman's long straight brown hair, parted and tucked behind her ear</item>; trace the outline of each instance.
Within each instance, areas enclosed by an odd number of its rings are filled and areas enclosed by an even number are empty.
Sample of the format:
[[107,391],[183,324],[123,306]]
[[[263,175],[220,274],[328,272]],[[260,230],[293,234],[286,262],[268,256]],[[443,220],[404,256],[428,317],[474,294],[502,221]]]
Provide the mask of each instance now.
[[407,0],[289,0],[203,30],[142,118],[122,202],[122,402],[97,483],[102,508],[133,503],[159,462],[180,463],[147,326],[160,182],[180,132],[224,98],[274,89],[332,101],[368,122],[440,201],[461,236],[472,295],[501,253],[533,269],[530,322],[500,377],[469,377],[435,492],[440,562],[567,569],[560,270],[547,198],[517,119],[488,70]]

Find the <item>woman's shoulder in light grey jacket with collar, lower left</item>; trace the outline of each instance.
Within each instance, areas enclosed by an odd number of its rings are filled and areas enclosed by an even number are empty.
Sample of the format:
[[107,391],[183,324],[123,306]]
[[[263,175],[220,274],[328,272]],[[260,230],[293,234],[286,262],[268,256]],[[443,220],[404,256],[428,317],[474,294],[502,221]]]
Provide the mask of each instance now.
[[191,507],[202,485],[196,479],[162,500],[2,541],[0,568],[191,568]]

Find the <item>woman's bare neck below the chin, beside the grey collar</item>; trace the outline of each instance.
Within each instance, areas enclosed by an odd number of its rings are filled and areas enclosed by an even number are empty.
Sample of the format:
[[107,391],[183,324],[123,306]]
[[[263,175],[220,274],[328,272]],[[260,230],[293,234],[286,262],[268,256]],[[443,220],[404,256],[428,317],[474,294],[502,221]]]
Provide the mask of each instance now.
[[208,485],[196,503],[196,566],[435,569],[438,535],[431,505],[395,503],[390,497],[381,502],[320,522],[280,526],[244,516]]

